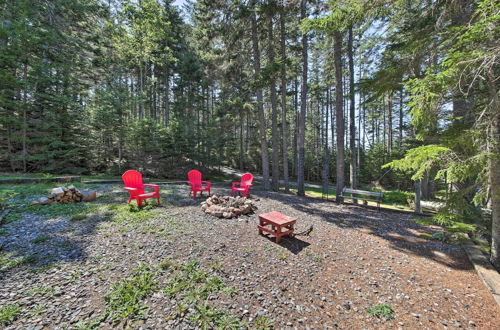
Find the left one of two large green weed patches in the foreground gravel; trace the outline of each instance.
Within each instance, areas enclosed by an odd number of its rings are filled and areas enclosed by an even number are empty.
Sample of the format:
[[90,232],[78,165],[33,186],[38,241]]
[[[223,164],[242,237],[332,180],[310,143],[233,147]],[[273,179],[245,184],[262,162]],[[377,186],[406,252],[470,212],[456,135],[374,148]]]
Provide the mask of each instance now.
[[147,307],[141,304],[141,300],[153,293],[155,288],[156,272],[147,265],[138,267],[132,277],[113,284],[104,297],[107,317],[118,321],[143,316]]

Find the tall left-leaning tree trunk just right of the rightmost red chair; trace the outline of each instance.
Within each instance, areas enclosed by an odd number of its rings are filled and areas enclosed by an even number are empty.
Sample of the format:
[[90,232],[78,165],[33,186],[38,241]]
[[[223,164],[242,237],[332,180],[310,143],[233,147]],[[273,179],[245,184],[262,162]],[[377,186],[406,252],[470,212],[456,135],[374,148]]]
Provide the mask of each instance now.
[[[252,46],[253,46],[253,65],[255,80],[260,79],[260,50],[259,39],[257,35],[257,15],[255,13],[255,0],[251,2],[252,8]],[[262,89],[257,87],[256,91],[257,109],[259,114],[260,126],[260,151],[262,155],[262,184],[265,190],[269,190],[269,153],[267,150],[266,138],[266,118],[264,115],[264,104],[262,103]]]

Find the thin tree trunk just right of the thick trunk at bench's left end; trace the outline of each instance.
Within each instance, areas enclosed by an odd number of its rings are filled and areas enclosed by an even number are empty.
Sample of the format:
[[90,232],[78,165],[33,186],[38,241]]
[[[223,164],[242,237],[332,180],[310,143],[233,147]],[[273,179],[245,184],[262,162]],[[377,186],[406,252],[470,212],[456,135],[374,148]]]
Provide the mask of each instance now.
[[[350,108],[349,108],[349,149],[351,150],[351,159],[350,159],[350,183],[351,188],[355,189],[357,186],[356,180],[356,125],[355,125],[355,111],[356,104],[355,102],[355,92],[354,92],[354,54],[353,54],[353,36],[352,36],[352,25],[349,27],[349,38],[347,42],[347,52],[349,56],[349,99],[350,99]],[[354,200],[354,203],[357,203],[357,200]]]

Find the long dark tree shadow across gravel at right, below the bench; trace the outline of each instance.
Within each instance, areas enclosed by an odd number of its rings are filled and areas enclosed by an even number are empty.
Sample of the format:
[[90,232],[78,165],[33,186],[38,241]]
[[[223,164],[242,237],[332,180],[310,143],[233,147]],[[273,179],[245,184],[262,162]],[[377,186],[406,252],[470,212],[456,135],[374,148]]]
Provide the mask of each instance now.
[[383,238],[396,250],[422,256],[450,268],[472,269],[472,265],[458,247],[439,241],[430,241],[415,235],[413,231],[429,234],[435,231],[411,221],[406,215],[376,211],[359,206],[337,206],[333,202],[282,193],[264,191],[256,191],[255,193],[261,197],[287,204],[305,214],[318,216],[339,228],[353,228]]

